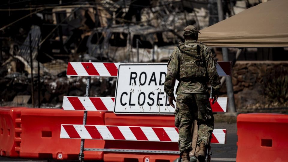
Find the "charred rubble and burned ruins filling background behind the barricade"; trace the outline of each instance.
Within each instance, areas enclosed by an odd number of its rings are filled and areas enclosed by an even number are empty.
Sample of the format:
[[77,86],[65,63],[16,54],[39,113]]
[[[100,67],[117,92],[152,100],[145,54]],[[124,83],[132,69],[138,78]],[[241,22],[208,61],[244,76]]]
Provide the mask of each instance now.
[[[228,14],[235,2],[224,2]],[[202,29],[217,15],[210,0],[3,0],[0,6],[0,105],[34,100],[39,107],[84,95],[85,78],[66,76],[69,61],[167,62],[184,26]],[[96,77],[90,94],[113,96],[114,89],[113,78]]]

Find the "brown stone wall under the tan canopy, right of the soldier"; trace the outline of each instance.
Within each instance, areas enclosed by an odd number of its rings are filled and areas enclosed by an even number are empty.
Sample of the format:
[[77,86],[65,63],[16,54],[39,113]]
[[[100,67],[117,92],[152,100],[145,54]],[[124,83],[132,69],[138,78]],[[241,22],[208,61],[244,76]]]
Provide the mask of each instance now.
[[[287,72],[288,61],[237,61],[232,70],[237,112],[287,109],[288,98],[277,98],[277,91],[279,93],[283,93],[285,89],[287,91]],[[285,76],[286,80],[283,80]],[[271,80],[276,83],[271,83]],[[221,91],[225,92],[226,87],[224,86]],[[276,94],[268,95],[271,91],[276,91]]]

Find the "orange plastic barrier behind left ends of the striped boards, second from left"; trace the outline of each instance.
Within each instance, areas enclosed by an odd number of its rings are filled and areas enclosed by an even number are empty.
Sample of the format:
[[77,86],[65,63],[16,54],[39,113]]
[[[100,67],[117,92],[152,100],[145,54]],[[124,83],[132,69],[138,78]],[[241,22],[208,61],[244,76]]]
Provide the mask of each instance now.
[[[77,160],[80,139],[60,139],[61,124],[82,124],[83,111],[22,111],[21,158]],[[104,112],[88,112],[87,125],[104,125]],[[85,140],[85,148],[104,148],[104,140]],[[84,152],[85,160],[103,160],[103,152]]]

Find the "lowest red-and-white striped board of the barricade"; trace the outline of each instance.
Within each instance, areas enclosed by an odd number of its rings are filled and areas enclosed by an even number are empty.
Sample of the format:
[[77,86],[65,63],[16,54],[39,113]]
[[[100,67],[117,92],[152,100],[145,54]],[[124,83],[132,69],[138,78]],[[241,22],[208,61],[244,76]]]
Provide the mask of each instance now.
[[[211,143],[225,144],[226,129],[214,129]],[[61,125],[60,138],[178,142],[178,128],[107,125]]]

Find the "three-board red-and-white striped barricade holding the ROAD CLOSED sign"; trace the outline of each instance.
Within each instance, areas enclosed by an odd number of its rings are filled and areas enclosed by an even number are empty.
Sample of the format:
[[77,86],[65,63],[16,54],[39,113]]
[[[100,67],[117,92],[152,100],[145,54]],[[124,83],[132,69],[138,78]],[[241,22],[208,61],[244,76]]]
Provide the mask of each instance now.
[[[218,62],[217,72],[219,76],[229,76],[231,67],[231,62]],[[167,63],[69,62],[67,76],[88,76],[86,97],[65,96],[62,109],[84,110],[85,113],[83,125],[61,125],[60,138],[82,139],[83,143],[81,143],[79,160],[83,160],[84,150],[179,154],[179,151],[176,151],[178,147],[175,145],[175,143],[178,142],[178,129],[174,128],[172,124],[168,124],[169,127],[162,127],[161,124],[157,124],[157,126],[151,125],[149,127],[147,125],[133,125],[134,122],[131,120],[125,125],[117,125],[117,122],[112,122],[112,125],[109,126],[85,125],[87,111],[106,111],[108,113],[114,111],[114,113],[125,114],[127,118],[130,116],[135,118],[135,116],[138,117],[137,115],[139,114],[140,116],[138,118],[141,118],[141,116],[147,117],[147,114],[158,114],[162,115],[161,117],[163,117],[163,115],[172,115],[174,109],[169,105],[163,89],[166,72]],[[88,97],[89,79],[91,76],[117,77],[116,97]],[[178,82],[176,82],[175,85],[177,86],[177,84]],[[148,101],[148,99],[150,100]],[[213,112],[226,112],[227,100],[227,98],[218,98],[215,104],[211,104]],[[155,116],[153,118],[152,120],[156,122],[158,117]],[[211,143],[224,144],[225,136],[225,129],[214,129]],[[143,142],[148,142],[147,145],[155,142],[168,142],[173,143],[173,145],[171,145],[172,147],[168,147],[168,149],[172,148],[172,150],[167,150],[167,148],[165,148],[166,150],[151,148],[141,150],[135,149],[135,147],[132,147],[133,149],[97,149],[83,148],[84,139],[115,140],[115,143],[117,143],[116,141],[134,141],[142,142],[141,145],[143,145]],[[129,145],[127,142],[126,144]],[[136,148],[137,145],[136,143]],[[168,145],[170,146],[170,144]]]

